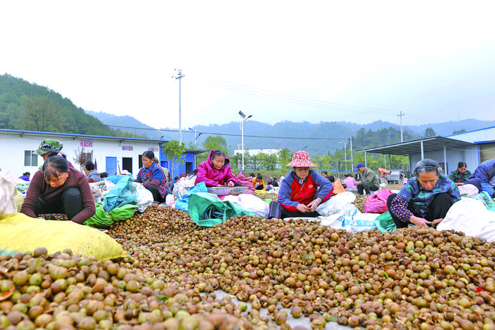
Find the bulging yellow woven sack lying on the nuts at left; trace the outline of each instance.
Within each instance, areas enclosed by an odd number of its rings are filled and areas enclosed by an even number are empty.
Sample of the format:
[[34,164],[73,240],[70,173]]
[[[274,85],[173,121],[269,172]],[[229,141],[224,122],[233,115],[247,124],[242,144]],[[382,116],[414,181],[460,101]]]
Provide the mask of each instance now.
[[107,234],[71,221],[42,220],[23,213],[0,216],[0,254],[34,251],[49,254],[65,249],[94,255],[99,261],[127,257],[122,246]]

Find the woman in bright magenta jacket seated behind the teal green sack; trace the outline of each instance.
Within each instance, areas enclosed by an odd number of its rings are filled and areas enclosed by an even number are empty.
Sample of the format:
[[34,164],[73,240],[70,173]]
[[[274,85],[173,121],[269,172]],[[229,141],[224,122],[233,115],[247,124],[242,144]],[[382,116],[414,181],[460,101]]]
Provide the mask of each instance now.
[[211,150],[208,159],[198,166],[194,185],[205,182],[206,187],[234,187],[237,179],[229,163],[229,158],[222,150]]

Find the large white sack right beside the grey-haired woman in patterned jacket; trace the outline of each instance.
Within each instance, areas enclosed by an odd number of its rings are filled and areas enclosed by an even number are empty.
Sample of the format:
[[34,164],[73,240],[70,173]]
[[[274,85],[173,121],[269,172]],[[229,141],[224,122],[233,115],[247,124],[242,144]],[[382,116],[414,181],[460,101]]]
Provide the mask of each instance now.
[[450,207],[437,229],[463,231],[468,236],[495,241],[495,212],[478,199],[461,199]]

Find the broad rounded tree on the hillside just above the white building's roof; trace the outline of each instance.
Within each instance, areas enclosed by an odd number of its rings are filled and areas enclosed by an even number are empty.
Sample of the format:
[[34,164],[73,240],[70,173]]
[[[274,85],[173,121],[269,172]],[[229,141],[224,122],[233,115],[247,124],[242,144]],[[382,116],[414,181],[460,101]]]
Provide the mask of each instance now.
[[63,131],[64,118],[60,107],[46,96],[22,96],[24,118],[22,127],[31,131]]

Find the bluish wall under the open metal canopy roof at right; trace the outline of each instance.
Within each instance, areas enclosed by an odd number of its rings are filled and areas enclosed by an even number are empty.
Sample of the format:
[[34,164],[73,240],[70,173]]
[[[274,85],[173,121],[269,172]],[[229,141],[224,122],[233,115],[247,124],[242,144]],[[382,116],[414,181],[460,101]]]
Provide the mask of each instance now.
[[[468,170],[473,172],[475,168],[480,164],[479,162],[479,153],[478,146],[473,145],[471,147],[462,148],[462,149],[452,149],[446,148],[445,154],[447,155],[447,164],[443,168],[445,172],[448,174],[455,169],[457,169],[457,164],[459,162],[465,162],[468,166]],[[434,159],[440,165],[445,163],[443,149],[436,150],[433,152],[424,152],[424,158]],[[421,160],[421,153],[413,154],[409,156],[409,164],[411,164],[411,171],[414,171],[415,165],[417,162]]]

